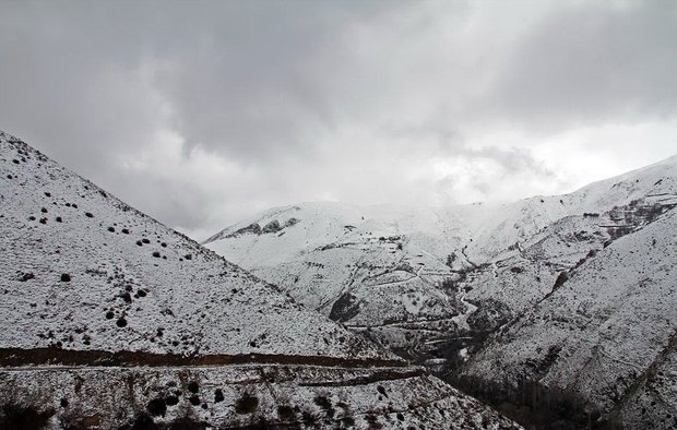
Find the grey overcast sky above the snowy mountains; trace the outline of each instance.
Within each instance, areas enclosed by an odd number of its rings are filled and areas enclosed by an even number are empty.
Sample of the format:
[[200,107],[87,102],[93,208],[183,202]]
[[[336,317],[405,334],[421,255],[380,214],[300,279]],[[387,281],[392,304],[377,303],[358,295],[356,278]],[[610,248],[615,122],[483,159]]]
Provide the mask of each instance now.
[[677,1],[0,0],[0,129],[197,239],[677,153]]

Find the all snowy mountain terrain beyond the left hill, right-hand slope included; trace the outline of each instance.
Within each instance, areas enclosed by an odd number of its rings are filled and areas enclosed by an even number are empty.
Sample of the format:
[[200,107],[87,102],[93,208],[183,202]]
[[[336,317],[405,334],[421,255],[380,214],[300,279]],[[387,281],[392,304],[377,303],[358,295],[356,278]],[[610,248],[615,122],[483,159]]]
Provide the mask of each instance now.
[[304,203],[206,246],[524,422],[670,428],[675,206],[677,156],[509,204]]

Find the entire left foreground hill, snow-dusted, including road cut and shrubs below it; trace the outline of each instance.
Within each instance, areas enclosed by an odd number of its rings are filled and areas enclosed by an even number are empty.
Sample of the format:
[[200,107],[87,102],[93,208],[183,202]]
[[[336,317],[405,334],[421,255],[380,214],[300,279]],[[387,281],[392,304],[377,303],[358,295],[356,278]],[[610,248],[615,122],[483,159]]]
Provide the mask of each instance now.
[[0,132],[0,428],[516,428]]

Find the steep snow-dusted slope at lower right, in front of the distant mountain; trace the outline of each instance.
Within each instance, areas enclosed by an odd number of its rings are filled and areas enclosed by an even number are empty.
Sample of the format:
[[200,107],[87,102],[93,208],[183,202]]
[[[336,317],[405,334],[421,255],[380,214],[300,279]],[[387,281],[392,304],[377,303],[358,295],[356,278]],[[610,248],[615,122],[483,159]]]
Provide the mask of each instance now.
[[[646,405],[641,413],[628,398],[653,392],[661,402],[653,398],[651,427],[673,428],[675,420],[666,418],[677,408],[677,375],[669,366],[655,368],[674,361],[677,346],[675,231],[673,210],[597,252],[492,335],[464,374],[515,389],[528,381],[544,392],[574,395],[594,417],[634,414],[634,422],[648,414]],[[628,410],[633,408],[639,414]]]

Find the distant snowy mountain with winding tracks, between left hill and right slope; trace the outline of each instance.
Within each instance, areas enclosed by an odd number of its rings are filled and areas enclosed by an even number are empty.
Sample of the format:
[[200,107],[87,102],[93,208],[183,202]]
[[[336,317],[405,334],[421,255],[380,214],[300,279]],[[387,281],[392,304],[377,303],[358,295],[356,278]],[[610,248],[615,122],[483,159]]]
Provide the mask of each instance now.
[[676,203],[676,178],[672,157],[510,204],[302,203],[205,244],[407,358],[449,358],[459,345],[446,338],[495,330],[538,302],[562,271],[645,224],[654,205]]

